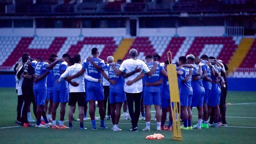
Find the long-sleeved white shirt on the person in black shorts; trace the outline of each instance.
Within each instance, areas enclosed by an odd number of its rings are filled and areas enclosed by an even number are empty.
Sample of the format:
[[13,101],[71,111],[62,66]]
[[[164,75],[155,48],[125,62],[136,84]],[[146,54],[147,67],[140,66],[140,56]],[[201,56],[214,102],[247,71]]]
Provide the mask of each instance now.
[[[63,79],[67,76],[74,76],[81,69],[82,69],[82,65],[79,63],[75,63],[73,66],[69,66],[67,70],[60,76],[59,82],[63,81]],[[87,71],[85,70],[84,75],[78,76],[71,80],[72,82],[76,82],[79,85],[76,87],[69,84],[69,92],[85,92],[84,78],[88,81],[98,82],[98,79],[88,76]]]

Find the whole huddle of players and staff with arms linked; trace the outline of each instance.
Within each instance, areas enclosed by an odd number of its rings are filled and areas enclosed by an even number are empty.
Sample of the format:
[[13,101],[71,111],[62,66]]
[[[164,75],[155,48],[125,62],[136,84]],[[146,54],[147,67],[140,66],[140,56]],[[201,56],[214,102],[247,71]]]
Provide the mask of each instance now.
[[[108,129],[104,123],[106,97],[108,97],[111,116],[108,116],[108,119],[111,119],[113,123],[111,130],[121,131],[118,123],[123,103],[125,107],[128,107],[128,117],[132,122],[132,128],[129,131],[138,131],[140,112],[142,119],[146,120],[146,127],[142,131],[150,131],[151,105],[154,105],[156,110],[156,130],[172,130],[172,109],[166,71],[168,60],[159,63],[159,55],[147,55],[145,63],[137,59],[137,50],[131,49],[130,59],[117,60],[114,63],[114,58],[108,56],[107,64],[105,64],[104,60],[99,58],[97,48],[92,48],[91,52],[92,57],[86,58],[82,64],[80,55],[70,58],[68,54],[63,54],[62,58],[58,59],[56,54],[52,54],[48,60],[43,61],[40,58],[32,59],[28,53],[24,53],[15,67],[18,93],[16,123],[25,127],[32,126],[28,122],[27,115],[32,103],[36,127],[73,129],[72,120],[74,120],[77,103],[80,129],[84,130],[86,128],[83,122],[87,119],[86,111],[87,103],[89,103],[92,130],[97,130],[95,122],[95,101],[97,101],[100,129]],[[209,123],[212,126],[227,126],[226,108],[224,108],[226,99],[224,88],[227,82],[222,61],[213,57],[209,58],[207,55],[199,58],[190,54],[187,57],[181,56],[176,66],[181,118],[184,121],[181,129],[208,128],[209,116],[211,116]],[[109,83],[109,86],[104,85],[104,90],[102,79]],[[221,96],[223,100],[220,100]],[[49,107],[48,103],[50,103]],[[63,123],[66,103],[69,105],[68,127]],[[224,107],[222,104],[219,107],[220,103],[224,103]],[[59,105],[60,121],[57,125],[56,110]],[[198,109],[198,122],[194,126],[192,126],[192,107]],[[165,127],[168,112],[170,121]],[[220,112],[221,119],[219,120]]]

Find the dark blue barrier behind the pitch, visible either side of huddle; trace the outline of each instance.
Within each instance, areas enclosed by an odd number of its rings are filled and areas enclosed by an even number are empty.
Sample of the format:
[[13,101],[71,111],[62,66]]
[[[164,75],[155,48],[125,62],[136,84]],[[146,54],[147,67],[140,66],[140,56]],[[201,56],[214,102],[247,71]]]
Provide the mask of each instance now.
[[[256,91],[256,78],[227,78],[229,91]],[[15,87],[15,75],[0,75],[0,87]]]

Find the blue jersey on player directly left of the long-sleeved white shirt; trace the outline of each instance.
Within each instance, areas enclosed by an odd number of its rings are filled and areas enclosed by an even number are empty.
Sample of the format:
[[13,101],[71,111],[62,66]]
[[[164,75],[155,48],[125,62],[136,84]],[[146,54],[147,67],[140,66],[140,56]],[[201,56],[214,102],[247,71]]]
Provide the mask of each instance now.
[[60,83],[56,83],[57,80],[60,79],[60,76],[62,75],[62,70],[66,71],[68,68],[68,63],[66,61],[58,62],[52,69],[53,75],[55,78],[54,81],[54,90],[62,90],[68,88],[68,82],[66,80],[63,80]]

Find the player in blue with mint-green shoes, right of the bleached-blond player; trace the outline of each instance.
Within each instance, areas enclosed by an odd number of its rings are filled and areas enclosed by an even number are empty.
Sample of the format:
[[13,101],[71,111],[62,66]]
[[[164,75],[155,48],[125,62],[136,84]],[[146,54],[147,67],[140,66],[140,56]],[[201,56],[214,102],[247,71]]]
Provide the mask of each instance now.
[[214,71],[212,67],[209,67],[206,62],[209,60],[207,55],[202,55],[200,58],[195,57],[195,63],[202,67],[203,75],[206,75],[203,79],[203,86],[204,86],[204,101],[203,101],[203,123],[201,124],[201,128],[209,128],[208,126],[208,108],[207,108],[207,98],[212,89],[212,79],[211,77],[214,76]]

